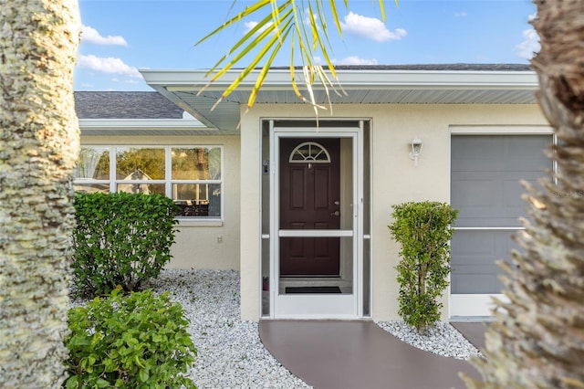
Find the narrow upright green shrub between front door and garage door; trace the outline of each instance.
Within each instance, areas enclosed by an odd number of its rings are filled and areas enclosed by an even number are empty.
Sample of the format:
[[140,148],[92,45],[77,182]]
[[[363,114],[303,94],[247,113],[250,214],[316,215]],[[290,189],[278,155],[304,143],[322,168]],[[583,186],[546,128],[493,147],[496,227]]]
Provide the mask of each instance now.
[[440,320],[438,298],[448,286],[450,228],[458,210],[438,202],[393,205],[391,237],[401,244],[401,261],[396,267],[400,283],[403,321],[424,330]]

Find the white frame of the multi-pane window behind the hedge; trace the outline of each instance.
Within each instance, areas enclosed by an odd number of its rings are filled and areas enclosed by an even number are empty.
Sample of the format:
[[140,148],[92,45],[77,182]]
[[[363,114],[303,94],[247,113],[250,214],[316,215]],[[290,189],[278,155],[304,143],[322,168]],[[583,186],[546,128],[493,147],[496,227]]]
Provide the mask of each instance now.
[[[81,144],[80,148],[104,148],[108,149],[110,158],[110,175],[108,180],[97,180],[93,178],[78,179],[74,178],[73,185],[92,185],[107,184],[110,187],[110,193],[117,193],[120,184],[163,184],[164,195],[174,200],[172,192],[173,184],[214,184],[219,185],[221,191],[219,216],[176,216],[181,226],[222,226],[224,221],[224,145],[222,144]],[[116,176],[117,172],[117,153],[119,149],[162,149],[164,151],[164,179],[163,180],[120,180]],[[215,180],[180,180],[172,179],[172,149],[214,149],[218,148],[221,152],[220,158],[220,179]]]

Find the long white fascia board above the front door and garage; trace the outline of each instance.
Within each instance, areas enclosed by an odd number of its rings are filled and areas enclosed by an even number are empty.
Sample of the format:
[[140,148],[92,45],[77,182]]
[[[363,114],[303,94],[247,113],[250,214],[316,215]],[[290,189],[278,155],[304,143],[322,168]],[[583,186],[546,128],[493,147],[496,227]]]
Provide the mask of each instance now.
[[[169,91],[198,90],[204,86],[209,90],[223,90],[239,76],[239,71],[230,70],[221,79],[209,84],[206,72],[141,70],[142,76],[152,88],[165,87]],[[238,89],[252,89],[258,73],[259,70],[252,71]],[[538,85],[535,71],[341,69],[337,71],[337,75],[344,89],[537,89]],[[301,88],[302,82],[299,78],[297,82]],[[318,88],[318,85],[314,87]],[[270,70],[262,89],[283,88],[291,88],[289,71]]]

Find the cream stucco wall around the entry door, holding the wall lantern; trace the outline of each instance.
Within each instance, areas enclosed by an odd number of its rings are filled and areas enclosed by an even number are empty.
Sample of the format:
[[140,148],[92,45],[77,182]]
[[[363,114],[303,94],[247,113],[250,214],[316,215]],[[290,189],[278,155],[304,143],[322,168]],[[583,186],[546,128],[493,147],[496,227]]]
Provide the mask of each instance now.
[[[255,104],[242,121],[241,264],[242,318],[259,319],[260,268],[260,122],[266,119],[313,118],[308,106]],[[368,105],[336,106],[334,118],[371,121],[371,263],[372,316],[398,320],[398,285],[394,267],[398,245],[391,240],[391,205],[406,201],[450,201],[450,126],[546,125],[537,105]],[[328,113],[323,113],[323,119]],[[417,166],[409,158],[412,138],[423,141]],[[257,152],[252,152],[257,150]],[[245,192],[245,193],[244,193]],[[448,317],[448,296],[443,298]]]

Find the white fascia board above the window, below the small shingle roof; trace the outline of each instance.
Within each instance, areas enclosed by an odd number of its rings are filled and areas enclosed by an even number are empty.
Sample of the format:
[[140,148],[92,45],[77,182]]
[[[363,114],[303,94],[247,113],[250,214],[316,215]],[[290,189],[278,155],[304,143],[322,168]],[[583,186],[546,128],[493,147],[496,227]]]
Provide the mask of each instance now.
[[201,130],[218,131],[205,127],[200,121],[188,119],[79,119],[81,130]]

